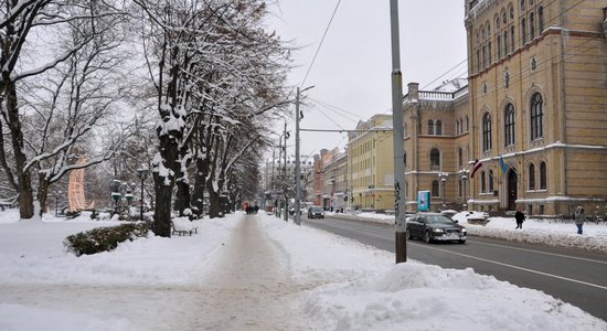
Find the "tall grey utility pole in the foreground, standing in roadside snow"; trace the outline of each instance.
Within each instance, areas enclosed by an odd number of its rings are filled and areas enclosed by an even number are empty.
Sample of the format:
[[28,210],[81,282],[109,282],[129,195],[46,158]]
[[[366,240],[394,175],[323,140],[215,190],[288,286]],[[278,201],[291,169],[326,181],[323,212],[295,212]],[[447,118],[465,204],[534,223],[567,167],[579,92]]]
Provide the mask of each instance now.
[[405,196],[401,192],[405,185],[404,129],[403,129],[403,73],[401,72],[401,45],[398,33],[398,1],[390,0],[390,22],[392,34],[392,120],[394,139],[394,224],[396,263],[407,260]]

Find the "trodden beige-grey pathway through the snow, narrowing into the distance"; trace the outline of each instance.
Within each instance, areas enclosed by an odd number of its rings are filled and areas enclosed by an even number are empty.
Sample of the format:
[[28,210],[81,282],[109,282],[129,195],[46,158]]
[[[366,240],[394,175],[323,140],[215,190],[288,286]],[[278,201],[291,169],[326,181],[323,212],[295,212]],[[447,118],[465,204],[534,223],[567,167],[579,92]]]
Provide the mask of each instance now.
[[[260,220],[244,216],[217,252],[202,279],[205,297],[201,325],[211,330],[302,330],[292,296],[302,287],[292,284],[288,257],[260,231]],[[295,313],[294,313],[295,312]]]

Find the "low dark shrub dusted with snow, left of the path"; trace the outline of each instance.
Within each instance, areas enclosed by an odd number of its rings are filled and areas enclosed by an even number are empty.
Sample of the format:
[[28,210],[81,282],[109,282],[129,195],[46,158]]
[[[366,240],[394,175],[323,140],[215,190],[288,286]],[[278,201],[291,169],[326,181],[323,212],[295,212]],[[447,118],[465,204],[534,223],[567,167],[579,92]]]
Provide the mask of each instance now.
[[63,241],[67,252],[76,256],[108,252],[119,243],[148,236],[146,223],[126,223],[118,226],[97,227],[87,232],[70,235]]

